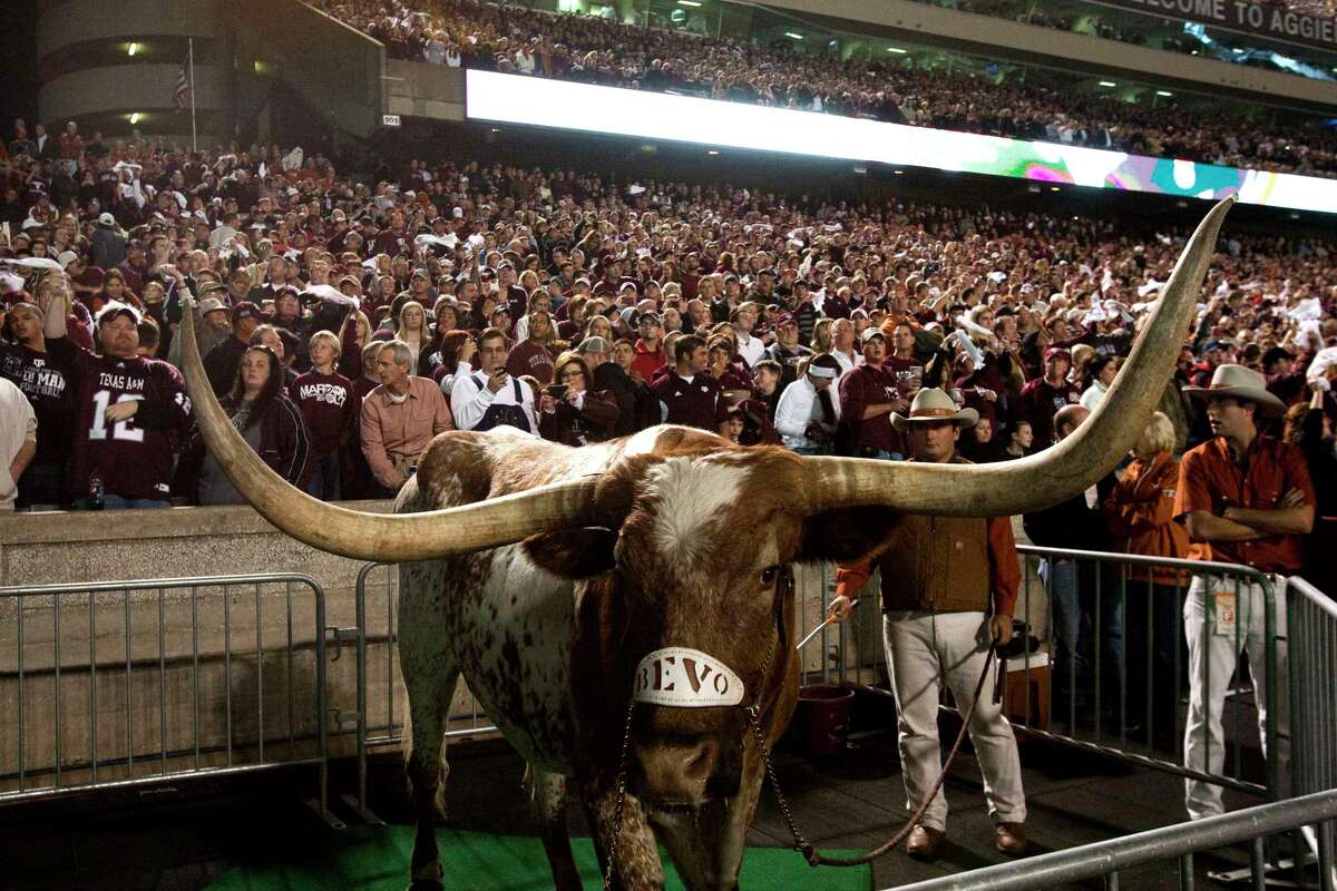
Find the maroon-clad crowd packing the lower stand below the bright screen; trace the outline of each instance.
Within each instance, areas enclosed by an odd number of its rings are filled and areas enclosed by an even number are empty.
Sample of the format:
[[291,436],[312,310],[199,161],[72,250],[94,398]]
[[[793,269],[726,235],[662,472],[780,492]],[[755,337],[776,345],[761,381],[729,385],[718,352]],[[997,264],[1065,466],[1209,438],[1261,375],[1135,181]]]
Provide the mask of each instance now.
[[[1183,236],[500,164],[362,183],[301,150],[83,144],[72,126],[57,144],[75,175],[0,168],[21,210],[0,248],[0,375],[37,422],[8,462],[20,508],[238,501],[193,430],[187,294],[234,423],[324,498],[388,497],[452,426],[579,445],[667,421],[894,460],[889,418],[921,386],[979,411],[963,456],[1020,457],[1059,438],[1060,410],[1099,405]],[[1211,438],[1185,386],[1231,362],[1265,373],[1313,446],[1321,516],[1330,256],[1229,236],[1162,399],[1181,453]]]

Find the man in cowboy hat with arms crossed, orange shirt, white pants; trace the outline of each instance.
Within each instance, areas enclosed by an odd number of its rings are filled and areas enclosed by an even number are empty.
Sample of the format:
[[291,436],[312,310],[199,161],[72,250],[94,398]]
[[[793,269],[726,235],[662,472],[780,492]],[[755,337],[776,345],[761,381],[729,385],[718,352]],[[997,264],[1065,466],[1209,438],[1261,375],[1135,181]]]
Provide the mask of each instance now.
[[[1189,528],[1193,560],[1245,564],[1273,574],[1275,636],[1286,636],[1284,576],[1301,566],[1302,536],[1314,525],[1314,488],[1298,448],[1258,433],[1261,417],[1275,417],[1285,403],[1267,391],[1267,379],[1242,365],[1218,365],[1207,386],[1185,387],[1207,403],[1213,437],[1179,462],[1174,514]],[[1258,703],[1258,732],[1267,743],[1267,672],[1275,668],[1277,752],[1285,779],[1290,760],[1286,717],[1286,649],[1267,659],[1266,601],[1262,585],[1194,576],[1183,606],[1189,641],[1189,717],[1185,765],[1221,773],[1225,737],[1221,709],[1241,647],[1249,651]],[[1269,663],[1273,663],[1269,665]],[[1280,792],[1280,789],[1278,789]],[[1190,819],[1222,814],[1221,787],[1185,780]]]

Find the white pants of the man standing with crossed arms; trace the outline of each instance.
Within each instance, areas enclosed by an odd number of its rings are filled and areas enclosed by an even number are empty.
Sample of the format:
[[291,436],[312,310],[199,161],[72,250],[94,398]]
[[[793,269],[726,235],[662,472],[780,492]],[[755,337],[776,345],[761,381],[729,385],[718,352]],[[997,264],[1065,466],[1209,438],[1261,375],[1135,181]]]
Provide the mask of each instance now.
[[[1277,641],[1277,755],[1281,759],[1282,795],[1290,763],[1290,725],[1288,724],[1286,689],[1286,598],[1285,580],[1274,577],[1274,633]],[[1238,581],[1235,622],[1222,625],[1217,614],[1217,592],[1235,594],[1237,580],[1219,576],[1194,576],[1183,604],[1183,635],[1189,641],[1189,719],[1183,732],[1183,764],[1187,768],[1221,775],[1226,763],[1225,731],[1221,711],[1226,701],[1230,677],[1239,661],[1239,651],[1249,651],[1249,673],[1258,704],[1258,737],[1267,755],[1267,659],[1266,609],[1262,585]],[[1229,601],[1225,605],[1229,605]],[[1203,628],[1206,622],[1206,629]],[[1206,679],[1203,679],[1206,672]],[[1185,807],[1189,819],[1223,814],[1221,787],[1201,780],[1185,780]]]

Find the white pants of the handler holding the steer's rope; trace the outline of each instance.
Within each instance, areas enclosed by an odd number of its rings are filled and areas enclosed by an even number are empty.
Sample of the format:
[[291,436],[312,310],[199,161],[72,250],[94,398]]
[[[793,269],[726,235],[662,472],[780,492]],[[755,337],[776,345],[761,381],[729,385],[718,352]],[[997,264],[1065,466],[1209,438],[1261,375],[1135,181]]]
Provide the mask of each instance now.
[[[989,622],[984,613],[890,612],[884,616],[882,632],[896,692],[905,807],[913,812],[943,771],[937,740],[943,680],[964,713],[988,659]],[[995,823],[1024,823],[1021,761],[1012,725],[1003,717],[1001,705],[993,701],[997,660],[989,661],[989,677],[971,715],[971,743],[984,775],[989,816]],[[924,826],[947,828],[947,799],[941,788],[924,812]]]

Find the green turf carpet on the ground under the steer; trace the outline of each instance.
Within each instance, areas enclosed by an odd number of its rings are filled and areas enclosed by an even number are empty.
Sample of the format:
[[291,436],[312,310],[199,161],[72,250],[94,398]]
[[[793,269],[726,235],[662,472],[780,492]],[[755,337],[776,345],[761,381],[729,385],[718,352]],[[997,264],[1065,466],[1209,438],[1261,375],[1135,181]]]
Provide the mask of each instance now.
[[[437,830],[437,840],[447,888],[539,891],[552,887],[548,860],[539,839]],[[600,888],[590,839],[572,839],[571,847],[586,888]],[[402,891],[408,886],[412,848],[412,827],[354,827],[330,836],[328,847],[294,854],[289,863],[239,866],[210,884],[207,891]],[[664,867],[668,871],[667,887],[681,891],[682,882],[667,855]],[[872,871],[866,866],[814,870],[794,851],[749,848],[741,884],[743,888],[868,891]]]

